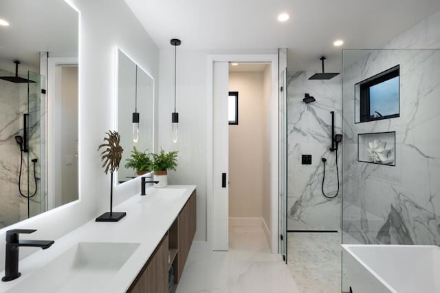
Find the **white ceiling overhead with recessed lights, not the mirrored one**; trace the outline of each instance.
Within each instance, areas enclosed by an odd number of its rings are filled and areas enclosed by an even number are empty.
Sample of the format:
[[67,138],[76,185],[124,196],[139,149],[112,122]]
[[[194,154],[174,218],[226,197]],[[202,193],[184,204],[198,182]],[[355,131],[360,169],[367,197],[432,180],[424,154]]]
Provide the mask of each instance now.
[[[378,48],[440,10],[439,0],[124,0],[160,49],[288,48],[290,72],[340,71],[341,48]],[[281,12],[289,21],[279,23]],[[343,39],[342,47],[333,41]],[[328,70],[327,70],[328,69]]]

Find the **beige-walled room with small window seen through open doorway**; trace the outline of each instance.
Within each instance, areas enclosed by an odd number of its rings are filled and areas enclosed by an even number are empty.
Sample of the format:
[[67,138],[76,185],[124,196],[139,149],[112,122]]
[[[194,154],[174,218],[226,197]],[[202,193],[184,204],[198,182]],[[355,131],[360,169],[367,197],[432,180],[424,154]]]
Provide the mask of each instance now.
[[270,243],[269,63],[229,64],[229,248]]

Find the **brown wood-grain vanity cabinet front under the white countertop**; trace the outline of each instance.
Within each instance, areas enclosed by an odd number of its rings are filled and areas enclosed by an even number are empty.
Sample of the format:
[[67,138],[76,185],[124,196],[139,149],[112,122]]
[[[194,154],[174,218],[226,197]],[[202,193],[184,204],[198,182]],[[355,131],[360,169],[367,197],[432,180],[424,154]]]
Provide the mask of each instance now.
[[[127,292],[129,293],[167,293],[168,271],[173,267],[174,286],[184,271],[186,259],[196,231],[196,192],[181,209],[166,235],[137,275]],[[168,263],[169,258],[169,263]]]

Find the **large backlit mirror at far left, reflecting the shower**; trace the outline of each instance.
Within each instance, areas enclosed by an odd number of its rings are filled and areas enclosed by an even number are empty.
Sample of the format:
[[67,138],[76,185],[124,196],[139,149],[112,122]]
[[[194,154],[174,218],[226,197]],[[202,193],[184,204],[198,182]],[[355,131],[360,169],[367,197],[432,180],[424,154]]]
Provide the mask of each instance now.
[[60,0],[0,0],[0,19],[4,228],[78,199],[79,13]]

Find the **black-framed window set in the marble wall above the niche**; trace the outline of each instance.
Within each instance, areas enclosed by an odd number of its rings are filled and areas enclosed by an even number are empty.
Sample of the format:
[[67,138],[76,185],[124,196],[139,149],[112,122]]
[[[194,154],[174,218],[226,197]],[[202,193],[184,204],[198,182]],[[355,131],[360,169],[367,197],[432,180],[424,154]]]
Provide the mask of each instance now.
[[399,85],[399,65],[356,84],[360,112],[356,122],[399,117]]

